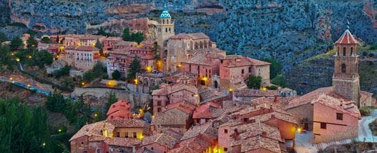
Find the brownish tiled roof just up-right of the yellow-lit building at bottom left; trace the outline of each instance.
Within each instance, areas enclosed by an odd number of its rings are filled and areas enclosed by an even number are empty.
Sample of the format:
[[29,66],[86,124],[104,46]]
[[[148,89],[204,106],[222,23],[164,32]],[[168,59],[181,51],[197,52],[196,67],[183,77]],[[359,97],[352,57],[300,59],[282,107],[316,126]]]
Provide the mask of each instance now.
[[185,126],[188,114],[179,109],[169,109],[154,117],[151,125],[154,126]]

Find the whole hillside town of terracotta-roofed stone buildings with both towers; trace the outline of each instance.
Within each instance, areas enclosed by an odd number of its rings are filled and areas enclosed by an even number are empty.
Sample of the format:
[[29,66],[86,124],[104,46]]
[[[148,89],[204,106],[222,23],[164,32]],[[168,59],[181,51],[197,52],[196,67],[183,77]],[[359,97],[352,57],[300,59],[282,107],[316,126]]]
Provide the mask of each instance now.
[[58,128],[75,132],[69,152],[320,152],[354,141],[376,149],[376,98],[361,90],[350,23],[329,51],[332,86],[307,94],[271,80],[276,60],[175,33],[167,9],[127,24],[122,36],[24,34],[1,46],[10,47],[5,67],[16,68],[1,82],[79,125]]

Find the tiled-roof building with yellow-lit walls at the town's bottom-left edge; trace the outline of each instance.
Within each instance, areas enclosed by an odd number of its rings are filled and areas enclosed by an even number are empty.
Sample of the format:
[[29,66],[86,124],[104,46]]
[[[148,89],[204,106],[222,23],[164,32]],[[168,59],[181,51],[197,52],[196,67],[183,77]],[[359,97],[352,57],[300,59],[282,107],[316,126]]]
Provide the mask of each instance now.
[[83,126],[71,139],[71,152],[132,152],[149,135],[142,120],[105,120]]

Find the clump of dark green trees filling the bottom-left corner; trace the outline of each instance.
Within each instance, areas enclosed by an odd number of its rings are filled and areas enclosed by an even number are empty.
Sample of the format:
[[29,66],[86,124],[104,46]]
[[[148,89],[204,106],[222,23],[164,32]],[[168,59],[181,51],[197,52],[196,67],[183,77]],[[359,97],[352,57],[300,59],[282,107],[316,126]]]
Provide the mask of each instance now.
[[21,102],[0,100],[0,152],[63,152],[51,139],[46,110],[29,109]]

